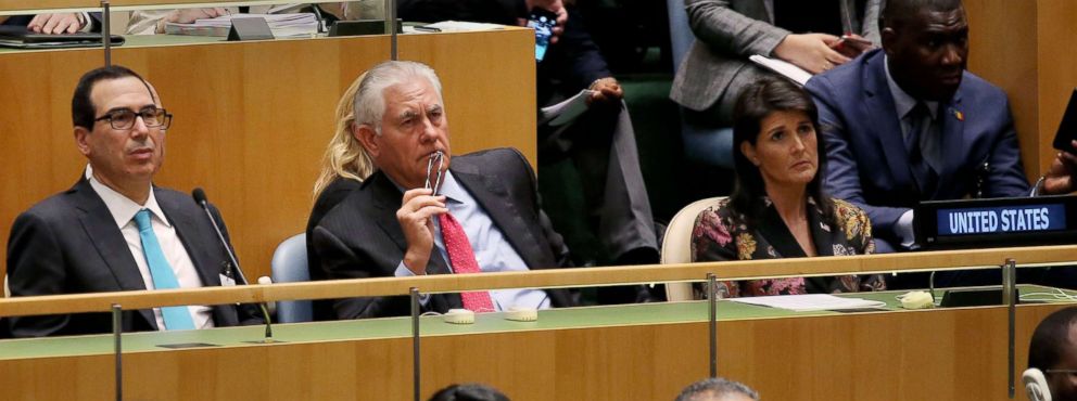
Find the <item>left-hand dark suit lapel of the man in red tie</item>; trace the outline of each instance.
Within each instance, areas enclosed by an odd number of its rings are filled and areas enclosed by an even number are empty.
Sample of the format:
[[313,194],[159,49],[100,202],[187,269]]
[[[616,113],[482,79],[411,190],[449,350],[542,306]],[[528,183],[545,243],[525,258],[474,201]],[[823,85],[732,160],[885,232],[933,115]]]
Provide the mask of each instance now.
[[[404,231],[401,229],[400,221],[396,220],[396,210],[401,208],[401,200],[404,198],[404,193],[380,170],[370,176],[363,184],[369,185],[372,192],[372,195],[368,199],[370,199],[370,203],[377,209],[373,214],[375,221],[377,221],[382,232],[389,235],[390,240],[396,244],[396,247],[401,250],[401,255],[403,255],[407,251],[407,240],[404,237]],[[448,263],[441,257],[441,253],[438,251],[436,247],[430,250],[427,273],[452,273],[448,270]]]

